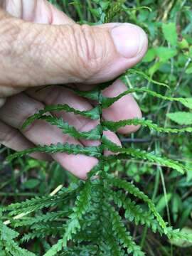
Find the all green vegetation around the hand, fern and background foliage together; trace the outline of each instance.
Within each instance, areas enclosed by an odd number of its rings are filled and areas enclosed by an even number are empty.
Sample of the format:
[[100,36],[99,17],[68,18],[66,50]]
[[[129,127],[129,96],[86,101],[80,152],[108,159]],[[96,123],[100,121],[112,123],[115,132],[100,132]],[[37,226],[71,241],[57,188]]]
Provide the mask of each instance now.
[[[23,124],[45,119],[75,138],[100,138],[101,146],[57,144],[16,154],[1,149],[12,160],[1,166],[1,255],[191,255],[191,1],[51,2],[80,23],[142,26],[149,51],[137,68],[120,77],[127,85],[121,95],[103,97],[101,89],[109,83],[92,92],[76,90],[97,100],[97,107],[80,112],[68,105],[48,106]],[[100,119],[103,109],[130,92],[144,119],[101,122],[87,133],[46,115],[65,110]],[[131,138],[120,137],[123,147],[102,134],[127,124],[141,129]],[[119,154],[103,156],[104,149]],[[79,181],[58,164],[18,158],[33,151],[81,153],[100,161],[87,181]]]

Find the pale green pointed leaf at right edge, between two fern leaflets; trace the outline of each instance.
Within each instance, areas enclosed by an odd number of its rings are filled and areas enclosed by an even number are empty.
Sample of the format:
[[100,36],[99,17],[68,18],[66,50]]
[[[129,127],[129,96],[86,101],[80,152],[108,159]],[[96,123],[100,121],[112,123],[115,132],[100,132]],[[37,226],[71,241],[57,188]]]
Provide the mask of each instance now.
[[174,112],[166,114],[171,121],[176,122],[181,125],[189,125],[192,124],[192,113],[190,112]]

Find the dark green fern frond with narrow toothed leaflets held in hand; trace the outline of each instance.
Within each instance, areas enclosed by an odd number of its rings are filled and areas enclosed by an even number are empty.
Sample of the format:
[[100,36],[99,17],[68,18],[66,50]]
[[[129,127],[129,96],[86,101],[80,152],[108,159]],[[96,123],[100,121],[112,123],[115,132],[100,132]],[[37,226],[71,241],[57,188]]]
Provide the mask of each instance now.
[[[124,1],[118,1],[117,4],[109,4],[107,10],[102,14],[101,21],[109,22],[119,11],[122,11]],[[130,70],[124,73],[119,79],[126,83],[126,76],[129,74],[142,75],[149,82],[154,82],[159,85],[164,85],[148,76],[139,70]],[[18,246],[14,239],[18,237],[18,233],[5,224],[10,224],[13,227],[28,226],[29,233],[23,235],[22,241],[28,241],[34,238],[45,238],[53,236],[58,238],[58,242],[45,252],[45,256],[52,255],[127,255],[142,256],[139,245],[136,244],[134,238],[127,230],[124,220],[129,223],[134,222],[135,225],[146,225],[148,228],[161,235],[167,235],[168,238],[181,238],[183,240],[192,241],[192,236],[183,234],[178,230],[173,230],[167,226],[167,223],[161,218],[157,212],[154,203],[133,183],[124,181],[109,174],[110,169],[108,164],[115,159],[139,158],[146,159],[152,164],[167,166],[172,169],[184,173],[186,167],[167,159],[163,156],[147,151],[141,151],[132,147],[122,148],[113,142],[110,142],[104,135],[103,131],[109,129],[118,131],[119,128],[130,124],[140,124],[156,132],[192,132],[191,127],[184,128],[164,128],[152,123],[150,120],[144,119],[129,119],[119,122],[109,122],[102,119],[102,110],[110,107],[114,102],[132,92],[146,92],[152,97],[159,97],[163,100],[177,101],[181,104],[186,104],[186,99],[167,97],[156,93],[148,88],[132,88],[118,95],[117,97],[107,98],[102,96],[102,89],[109,86],[110,82],[97,87],[90,92],[80,92],[75,90],[78,95],[87,99],[97,100],[98,105],[92,110],[80,111],[75,110],[68,105],[52,105],[47,106],[44,110],[39,111],[32,117],[29,117],[23,128],[31,124],[36,119],[43,119],[46,122],[60,128],[63,133],[69,134],[75,139],[92,139],[101,140],[100,146],[77,146],[73,144],[57,144],[37,146],[34,149],[28,149],[9,156],[9,160],[13,160],[18,156],[24,156],[33,152],[56,153],[65,152],[67,154],[85,154],[87,156],[95,156],[99,160],[90,174],[87,181],[80,181],[78,184],[70,184],[69,188],[63,188],[60,192],[52,196],[43,196],[32,198],[21,203],[14,203],[2,209],[6,214],[9,222],[0,223],[1,250],[8,252],[10,255],[26,255],[32,256],[32,252],[28,252]],[[166,85],[164,85],[166,86]],[[70,88],[70,90],[73,90]],[[100,125],[92,129],[90,132],[79,132],[75,127],[69,125],[65,120],[55,116],[55,112],[73,112],[90,119],[100,120]],[[113,156],[105,156],[104,150],[110,150],[116,153]],[[95,178],[97,175],[97,178]],[[114,189],[115,188],[115,189]],[[126,193],[125,193],[126,192]],[[127,195],[132,195],[142,204],[136,203]],[[73,208],[69,206],[69,202],[73,201]],[[62,204],[62,208],[60,208]],[[145,205],[145,208],[143,207]],[[43,209],[54,207],[55,211],[43,213]],[[124,215],[119,215],[119,208],[124,208]],[[32,214],[33,213],[33,214]],[[15,215],[20,215],[22,218],[14,218]],[[29,216],[30,215],[30,216]],[[12,241],[12,242],[11,242]],[[68,243],[70,241],[70,243]]]

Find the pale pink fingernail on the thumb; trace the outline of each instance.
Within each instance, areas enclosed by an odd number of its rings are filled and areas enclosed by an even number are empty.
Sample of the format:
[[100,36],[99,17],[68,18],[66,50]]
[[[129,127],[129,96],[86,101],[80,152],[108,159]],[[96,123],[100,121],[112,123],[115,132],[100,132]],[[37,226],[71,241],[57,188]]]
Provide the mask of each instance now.
[[146,33],[136,25],[123,23],[112,28],[111,35],[117,52],[124,58],[134,58],[147,43]]

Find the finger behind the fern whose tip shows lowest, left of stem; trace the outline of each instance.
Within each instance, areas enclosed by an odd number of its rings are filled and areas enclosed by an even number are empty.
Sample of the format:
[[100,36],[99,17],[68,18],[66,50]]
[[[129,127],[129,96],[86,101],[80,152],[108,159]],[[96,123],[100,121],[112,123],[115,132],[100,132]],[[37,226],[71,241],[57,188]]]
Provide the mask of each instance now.
[[[28,97],[19,94],[8,98],[6,104],[0,109],[0,119],[7,125],[19,129],[23,121],[40,110],[43,104]],[[54,127],[43,120],[36,120],[25,131],[23,135],[33,142],[33,144],[57,144],[68,142],[69,144],[80,144],[73,138],[63,134],[60,129]],[[53,159],[58,161],[65,169],[75,174],[79,178],[86,178],[86,174],[97,164],[97,159],[84,155],[53,154]]]

